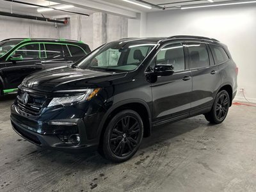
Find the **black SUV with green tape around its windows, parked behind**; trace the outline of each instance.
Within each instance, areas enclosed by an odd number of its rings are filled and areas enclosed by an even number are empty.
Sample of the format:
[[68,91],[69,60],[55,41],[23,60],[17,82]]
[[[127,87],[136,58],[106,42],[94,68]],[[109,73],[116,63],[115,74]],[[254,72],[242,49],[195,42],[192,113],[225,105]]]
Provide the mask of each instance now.
[[83,58],[88,52],[88,45],[72,40],[3,40],[0,42],[0,95],[17,91],[22,80],[33,72],[67,66]]

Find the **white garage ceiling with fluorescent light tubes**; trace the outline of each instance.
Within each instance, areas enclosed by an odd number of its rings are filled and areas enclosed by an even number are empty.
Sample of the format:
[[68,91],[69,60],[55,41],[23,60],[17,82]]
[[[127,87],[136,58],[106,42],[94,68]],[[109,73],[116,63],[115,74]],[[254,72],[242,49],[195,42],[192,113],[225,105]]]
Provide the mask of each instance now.
[[[26,3],[33,3],[42,6],[56,6],[58,4],[72,4],[73,8],[68,8],[68,11],[72,12],[79,12],[79,13],[86,13],[92,14],[93,12],[106,12],[112,13],[115,15],[122,15],[124,17],[134,18],[136,17],[136,13],[140,12],[159,12],[161,9],[159,7],[152,6],[152,9],[143,8],[136,4],[128,3],[122,0],[51,0],[51,1],[44,1],[44,0],[19,0]],[[211,4],[209,0],[129,0],[134,3],[140,3],[144,5],[148,4],[155,4],[157,6],[166,8],[166,9],[177,9],[180,6],[186,6],[191,4]],[[226,2],[231,0],[213,0],[214,3]],[[0,0],[0,9],[7,10],[8,12],[26,12],[26,13],[33,13],[33,15],[41,15],[37,12],[36,6],[29,6],[25,4],[19,3],[12,3],[4,0]],[[43,13],[46,16],[53,17],[58,15],[65,15],[67,13],[60,12],[57,10],[52,10],[49,12]],[[72,13],[71,13],[72,14]],[[68,13],[70,15],[70,13]]]

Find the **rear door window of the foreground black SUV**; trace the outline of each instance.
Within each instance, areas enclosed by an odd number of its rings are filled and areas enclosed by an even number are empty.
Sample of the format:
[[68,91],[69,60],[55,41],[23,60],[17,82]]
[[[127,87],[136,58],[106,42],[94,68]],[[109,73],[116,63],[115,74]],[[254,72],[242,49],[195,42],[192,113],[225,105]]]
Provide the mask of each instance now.
[[210,65],[209,55],[205,44],[189,43],[186,44],[189,52],[189,67],[200,68]]

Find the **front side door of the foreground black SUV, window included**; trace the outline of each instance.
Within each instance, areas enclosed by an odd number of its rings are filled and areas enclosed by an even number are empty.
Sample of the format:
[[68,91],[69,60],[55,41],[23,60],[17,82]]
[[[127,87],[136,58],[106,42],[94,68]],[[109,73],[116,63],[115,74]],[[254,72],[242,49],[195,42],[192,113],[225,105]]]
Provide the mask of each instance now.
[[185,65],[183,45],[180,43],[164,45],[152,62],[154,65],[169,64],[174,67],[174,74],[158,76],[156,83],[151,85],[152,116],[155,124],[189,115],[192,79]]

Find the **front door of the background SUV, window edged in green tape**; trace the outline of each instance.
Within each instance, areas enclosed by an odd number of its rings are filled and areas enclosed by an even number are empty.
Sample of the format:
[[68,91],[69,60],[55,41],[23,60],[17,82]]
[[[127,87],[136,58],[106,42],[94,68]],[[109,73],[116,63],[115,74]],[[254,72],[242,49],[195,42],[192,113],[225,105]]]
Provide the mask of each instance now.
[[[23,60],[11,61],[10,56],[13,54],[20,54]],[[6,63],[4,63],[5,67],[2,69],[4,89],[17,88],[26,76],[43,68],[40,65],[43,59],[40,58],[38,43],[21,45],[10,56],[7,58]]]

